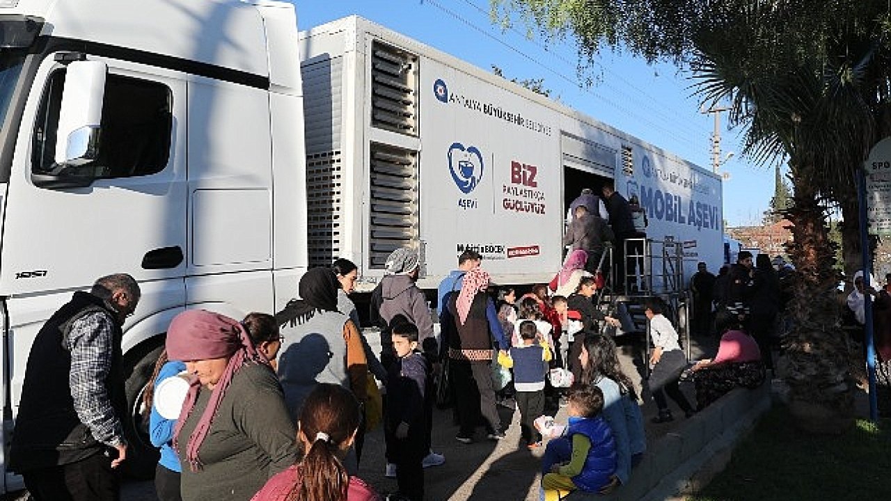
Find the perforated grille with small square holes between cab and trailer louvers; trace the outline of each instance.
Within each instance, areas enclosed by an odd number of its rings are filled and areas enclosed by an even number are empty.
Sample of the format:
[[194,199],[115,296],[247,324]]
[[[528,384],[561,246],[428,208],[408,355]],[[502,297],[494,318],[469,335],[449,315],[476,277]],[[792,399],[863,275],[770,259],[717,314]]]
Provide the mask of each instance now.
[[342,166],[339,151],[307,155],[309,266],[330,266],[340,257]]

